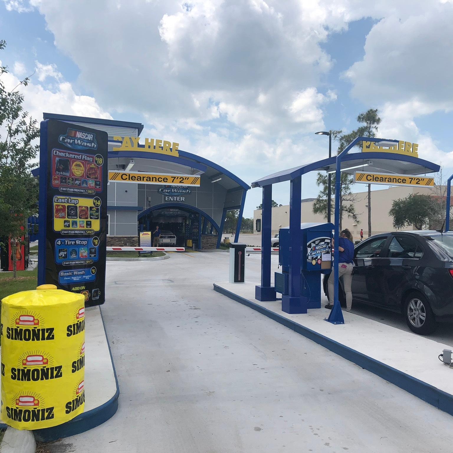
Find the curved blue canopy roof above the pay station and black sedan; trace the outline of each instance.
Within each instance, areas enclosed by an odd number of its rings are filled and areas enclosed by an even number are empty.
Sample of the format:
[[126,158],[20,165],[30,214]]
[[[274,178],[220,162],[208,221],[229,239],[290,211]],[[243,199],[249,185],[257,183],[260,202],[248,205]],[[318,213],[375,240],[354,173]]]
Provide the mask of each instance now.
[[[311,171],[335,171],[337,164],[336,157],[318,160],[311,164],[300,165],[287,170],[282,170],[277,173],[272,173],[269,176],[260,178],[252,183],[252,187],[263,187],[270,184],[290,181],[309,173]],[[355,167],[355,168],[351,168]],[[429,162],[428,160],[419,159],[404,154],[385,153],[385,152],[366,152],[366,153],[351,153],[342,156],[341,163],[342,171],[346,173],[354,173],[357,170],[363,169],[367,172],[375,173],[397,173],[397,174],[424,174],[437,172],[440,169],[438,164]]]

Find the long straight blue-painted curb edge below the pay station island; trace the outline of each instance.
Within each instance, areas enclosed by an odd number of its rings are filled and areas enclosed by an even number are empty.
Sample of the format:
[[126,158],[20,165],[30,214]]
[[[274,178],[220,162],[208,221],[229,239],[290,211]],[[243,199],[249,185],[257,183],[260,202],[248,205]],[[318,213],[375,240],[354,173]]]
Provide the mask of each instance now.
[[410,394],[420,398],[420,400],[426,401],[430,405],[437,407],[444,412],[447,412],[450,415],[453,415],[453,395],[439,390],[438,388],[427,384],[426,382],[420,381],[419,379],[414,378],[406,373],[403,373],[392,366],[388,366],[385,363],[377,361],[371,357],[362,354],[350,347],[347,347],[339,342],[332,340],[331,338],[325,337],[314,330],[311,330],[307,327],[304,327],[291,319],[284,318],[278,313],[275,313],[261,305],[255,304],[251,300],[245,299],[237,294],[224,289],[214,283],[214,291],[221,293],[230,299],[235,300],[241,304],[246,305],[247,307],[253,308],[257,312],[264,314],[268,318],[277,321],[278,323],[284,325],[285,327],[294,330],[294,332],[307,337],[308,339],[318,343],[319,345],[325,347],[326,349],[335,352],[341,357],[355,363],[358,366],[361,366],[365,370],[371,371],[371,373],[376,374],[377,376],[389,381],[397,387],[400,387],[403,390],[406,390]]

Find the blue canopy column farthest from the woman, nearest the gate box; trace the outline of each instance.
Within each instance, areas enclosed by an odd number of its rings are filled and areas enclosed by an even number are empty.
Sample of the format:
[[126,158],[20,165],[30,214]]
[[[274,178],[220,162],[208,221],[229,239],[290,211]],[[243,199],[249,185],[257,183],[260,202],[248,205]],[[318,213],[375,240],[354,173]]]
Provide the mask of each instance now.
[[[261,218],[261,285],[255,286],[255,299],[277,300],[275,288],[270,286],[270,236],[272,221],[272,185],[263,187]],[[299,217],[300,218],[300,217]],[[299,222],[300,223],[300,222]]]

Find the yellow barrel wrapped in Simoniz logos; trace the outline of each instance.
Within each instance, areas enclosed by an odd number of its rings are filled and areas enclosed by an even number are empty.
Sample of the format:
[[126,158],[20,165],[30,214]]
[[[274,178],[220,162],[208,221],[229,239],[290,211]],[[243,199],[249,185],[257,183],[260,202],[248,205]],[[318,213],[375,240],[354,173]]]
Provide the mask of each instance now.
[[56,426],[83,412],[83,294],[41,285],[1,305],[1,420],[16,429]]

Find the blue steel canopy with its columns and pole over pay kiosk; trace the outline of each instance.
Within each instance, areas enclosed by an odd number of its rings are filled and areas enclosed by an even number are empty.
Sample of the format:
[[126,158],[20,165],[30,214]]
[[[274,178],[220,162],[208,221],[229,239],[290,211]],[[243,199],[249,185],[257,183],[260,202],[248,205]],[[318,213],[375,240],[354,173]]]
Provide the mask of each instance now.
[[[301,297],[300,280],[300,253],[302,251],[301,234],[300,234],[300,200],[301,200],[301,177],[305,173],[319,170],[335,169],[335,227],[334,240],[338,244],[339,240],[339,220],[340,220],[340,184],[341,172],[347,171],[348,167],[365,165],[366,161],[372,161],[372,165],[367,163],[370,170],[381,172],[393,172],[404,174],[421,174],[433,173],[440,169],[438,164],[434,164],[424,159],[415,158],[405,154],[386,153],[386,152],[366,152],[348,154],[357,143],[361,141],[381,141],[379,138],[356,137],[343,151],[336,157],[319,160],[311,164],[305,164],[292,169],[273,173],[265,178],[261,178],[251,184],[253,188],[261,187],[263,189],[263,209],[261,225],[261,285],[255,288],[255,298],[260,301],[276,300],[275,287],[270,286],[270,234],[271,234],[271,195],[272,184],[283,181],[291,181],[290,185],[290,211],[289,211],[289,231],[291,258],[289,265],[289,290],[288,295],[282,297],[282,310],[287,313],[307,313],[307,302]],[[379,161],[375,164],[375,160]],[[386,165],[380,165],[386,162]],[[393,170],[392,170],[393,169]],[[354,169],[353,171],[355,171]],[[403,171],[402,171],[403,170]],[[453,179],[453,175],[452,178]],[[451,180],[450,179],[450,180]],[[338,263],[338,247],[334,249],[334,263]],[[328,321],[333,323],[344,323],[343,315],[338,298],[338,266],[334,265],[334,308],[329,316]]]

